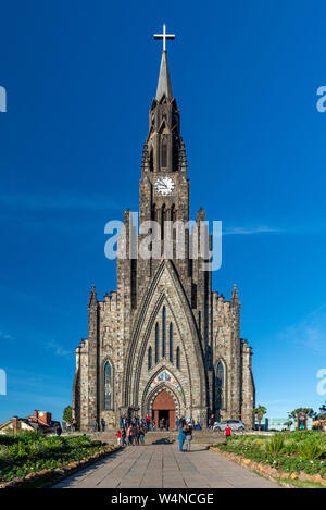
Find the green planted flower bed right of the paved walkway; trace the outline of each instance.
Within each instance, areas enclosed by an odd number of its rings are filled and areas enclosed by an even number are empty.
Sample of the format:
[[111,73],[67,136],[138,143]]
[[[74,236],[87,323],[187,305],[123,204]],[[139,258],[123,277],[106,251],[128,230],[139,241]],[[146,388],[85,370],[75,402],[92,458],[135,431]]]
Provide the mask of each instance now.
[[213,449],[268,476],[326,486],[326,438],[318,432],[234,436]]

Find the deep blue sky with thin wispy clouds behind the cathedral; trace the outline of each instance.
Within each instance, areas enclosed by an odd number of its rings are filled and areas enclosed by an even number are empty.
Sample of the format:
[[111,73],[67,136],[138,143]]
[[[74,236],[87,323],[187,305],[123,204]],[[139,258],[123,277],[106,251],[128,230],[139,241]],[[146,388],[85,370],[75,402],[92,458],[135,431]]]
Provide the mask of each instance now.
[[[238,284],[258,403],[326,400],[325,10],[310,1],[11,1],[1,7],[0,421],[71,402],[104,224],[138,209],[163,22],[191,217],[222,220],[214,288]],[[166,14],[167,13],[167,14]]]

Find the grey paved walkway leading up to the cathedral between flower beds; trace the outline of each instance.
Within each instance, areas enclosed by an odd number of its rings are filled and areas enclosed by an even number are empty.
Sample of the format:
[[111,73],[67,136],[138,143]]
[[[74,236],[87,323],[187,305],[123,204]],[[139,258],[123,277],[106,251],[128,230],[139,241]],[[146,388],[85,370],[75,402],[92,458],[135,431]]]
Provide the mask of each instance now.
[[274,482],[191,445],[179,452],[176,444],[130,446],[63,480],[54,488],[277,488]]

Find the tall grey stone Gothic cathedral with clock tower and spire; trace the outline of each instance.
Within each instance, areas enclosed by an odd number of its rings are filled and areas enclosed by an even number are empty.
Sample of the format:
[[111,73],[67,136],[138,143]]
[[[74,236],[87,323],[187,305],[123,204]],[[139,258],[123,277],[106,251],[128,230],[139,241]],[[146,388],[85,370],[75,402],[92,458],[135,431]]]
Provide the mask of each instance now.
[[[186,151],[165,40],[163,48],[139,183],[139,224],[155,220],[161,239],[167,220],[189,221]],[[196,224],[203,220],[199,209]],[[127,233],[129,222],[127,210]],[[237,288],[226,300],[212,291],[211,279],[200,259],[189,257],[187,239],[183,259],[175,250],[170,258],[117,258],[117,288],[103,299],[91,288],[88,338],[76,348],[73,414],[80,431],[102,418],[118,426],[121,415],[147,414],[156,424],[167,419],[171,427],[178,416],[205,426],[212,413],[253,427],[252,351],[240,337]]]

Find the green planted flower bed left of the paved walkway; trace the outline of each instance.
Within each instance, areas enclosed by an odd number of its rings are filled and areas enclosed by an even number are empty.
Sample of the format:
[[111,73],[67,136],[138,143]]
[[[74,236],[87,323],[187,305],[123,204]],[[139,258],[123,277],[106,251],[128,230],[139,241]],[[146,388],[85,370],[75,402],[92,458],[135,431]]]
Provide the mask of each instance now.
[[60,478],[116,449],[89,436],[0,436],[0,486],[24,485],[40,477],[51,478],[52,474]]

